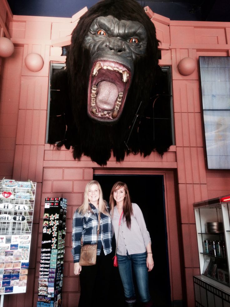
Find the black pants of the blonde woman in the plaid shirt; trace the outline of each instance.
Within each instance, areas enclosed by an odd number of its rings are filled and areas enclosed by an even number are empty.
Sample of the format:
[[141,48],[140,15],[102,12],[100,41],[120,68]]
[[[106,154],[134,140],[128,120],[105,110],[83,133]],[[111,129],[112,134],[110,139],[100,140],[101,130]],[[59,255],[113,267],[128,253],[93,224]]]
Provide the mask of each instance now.
[[95,265],[82,266],[80,277],[81,294],[78,307],[109,306],[110,273],[112,253],[105,256],[103,250]]

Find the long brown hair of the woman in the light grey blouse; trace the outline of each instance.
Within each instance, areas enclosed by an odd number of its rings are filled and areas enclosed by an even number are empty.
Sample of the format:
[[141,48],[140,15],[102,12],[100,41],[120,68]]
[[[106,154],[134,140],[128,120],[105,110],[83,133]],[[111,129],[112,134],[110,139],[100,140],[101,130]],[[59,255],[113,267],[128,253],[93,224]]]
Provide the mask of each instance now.
[[127,184],[124,183],[124,182],[118,181],[118,182],[114,183],[112,190],[110,192],[109,205],[110,205],[110,210],[111,210],[111,216],[113,217],[113,210],[114,210],[114,207],[116,206],[116,201],[113,197],[113,192],[121,189],[122,187],[125,190],[125,199],[124,199],[124,204],[123,204],[123,212],[124,212],[123,219],[125,217],[126,225],[130,229],[130,227],[131,227],[131,215],[133,214],[133,207],[132,207],[132,203],[131,203]]

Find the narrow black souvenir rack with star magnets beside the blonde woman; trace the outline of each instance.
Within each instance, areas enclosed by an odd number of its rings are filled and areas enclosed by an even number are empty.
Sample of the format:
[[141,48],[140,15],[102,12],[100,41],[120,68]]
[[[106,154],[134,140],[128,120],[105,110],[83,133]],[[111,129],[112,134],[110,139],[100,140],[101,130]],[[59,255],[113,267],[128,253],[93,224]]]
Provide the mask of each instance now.
[[37,307],[62,306],[66,198],[45,199]]

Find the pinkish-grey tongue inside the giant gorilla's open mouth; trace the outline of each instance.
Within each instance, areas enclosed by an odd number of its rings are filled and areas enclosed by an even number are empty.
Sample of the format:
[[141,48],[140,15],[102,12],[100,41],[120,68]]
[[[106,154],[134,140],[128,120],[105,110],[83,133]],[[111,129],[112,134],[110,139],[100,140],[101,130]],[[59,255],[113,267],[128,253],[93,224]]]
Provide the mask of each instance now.
[[97,106],[101,110],[113,110],[119,91],[114,83],[108,81],[99,82],[97,85]]

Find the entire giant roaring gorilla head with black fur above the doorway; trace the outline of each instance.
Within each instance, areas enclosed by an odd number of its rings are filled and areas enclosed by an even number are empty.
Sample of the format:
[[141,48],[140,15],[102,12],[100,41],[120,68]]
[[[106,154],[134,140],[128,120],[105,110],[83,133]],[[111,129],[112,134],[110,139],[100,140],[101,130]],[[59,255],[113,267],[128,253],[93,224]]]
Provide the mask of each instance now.
[[60,141],[57,146],[72,147],[75,159],[86,155],[99,165],[107,164],[111,152],[116,161],[130,152],[162,155],[171,138],[156,137],[146,121],[159,94],[156,76],[162,80],[156,30],[141,5],[98,2],[80,18],[66,68],[53,78],[60,90],[53,110],[64,114],[67,130],[62,141],[55,140],[53,127],[49,143]]

